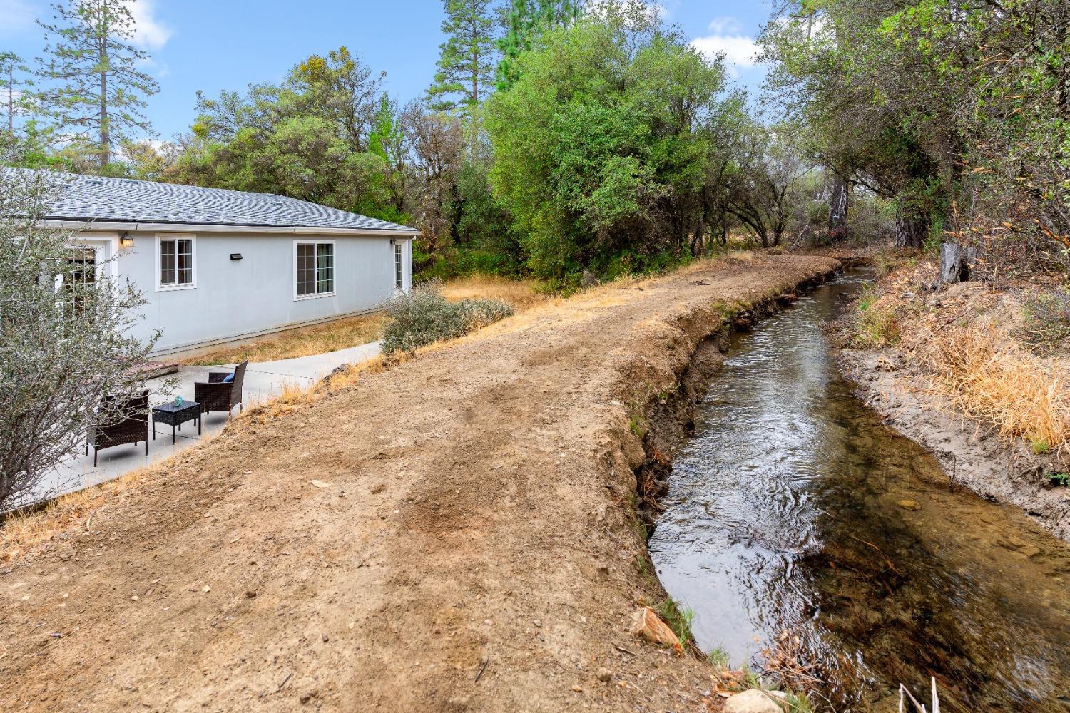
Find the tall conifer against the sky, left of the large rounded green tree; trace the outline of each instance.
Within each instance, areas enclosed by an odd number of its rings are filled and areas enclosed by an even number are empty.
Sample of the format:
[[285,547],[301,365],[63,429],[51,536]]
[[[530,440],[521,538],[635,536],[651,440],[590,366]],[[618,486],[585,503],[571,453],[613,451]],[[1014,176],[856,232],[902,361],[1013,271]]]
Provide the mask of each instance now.
[[434,111],[460,110],[469,121],[470,151],[478,141],[478,108],[490,90],[494,66],[494,21],[491,0],[445,0],[446,41],[439,47],[438,72],[427,90]]

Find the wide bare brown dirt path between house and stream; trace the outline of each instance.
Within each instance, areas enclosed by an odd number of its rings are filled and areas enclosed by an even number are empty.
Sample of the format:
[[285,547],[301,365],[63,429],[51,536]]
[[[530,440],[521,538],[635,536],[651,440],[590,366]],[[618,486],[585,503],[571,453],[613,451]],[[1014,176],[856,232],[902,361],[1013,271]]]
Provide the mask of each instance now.
[[716,303],[836,264],[597,289],[239,419],[0,574],[0,709],[716,709],[708,664],[628,633],[663,595],[637,414]]

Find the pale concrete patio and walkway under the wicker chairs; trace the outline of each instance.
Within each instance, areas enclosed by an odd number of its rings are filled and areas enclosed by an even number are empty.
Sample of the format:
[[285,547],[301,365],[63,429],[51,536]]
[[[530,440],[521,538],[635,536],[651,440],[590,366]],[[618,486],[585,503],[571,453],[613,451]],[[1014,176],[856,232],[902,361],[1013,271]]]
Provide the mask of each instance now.
[[[287,386],[308,388],[342,365],[361,363],[377,357],[380,353],[380,342],[371,342],[326,354],[249,363],[245,369],[244,405],[248,408],[266,403],[278,397]],[[210,371],[230,371],[234,366],[180,367],[177,374],[149,379],[146,384],[150,391],[156,391],[166,379],[178,379],[178,385],[172,389],[170,398],[157,396],[153,403],[170,401],[174,396],[193,401],[194,383],[207,382]],[[238,413],[235,408],[234,416]],[[77,458],[64,463],[47,476],[30,500],[37,501],[64,493],[73,493],[119,478],[211,438],[226,424],[227,414],[221,412],[205,414],[201,419],[200,434],[197,433],[197,424],[187,421],[182,424],[182,430],[177,433],[175,443],[172,445],[171,428],[157,423],[155,440],[152,439],[151,435],[149,437],[148,455],[146,455],[143,443],[116,446],[98,453],[96,467],[93,466],[93,450],[90,449],[88,456],[79,453]]]

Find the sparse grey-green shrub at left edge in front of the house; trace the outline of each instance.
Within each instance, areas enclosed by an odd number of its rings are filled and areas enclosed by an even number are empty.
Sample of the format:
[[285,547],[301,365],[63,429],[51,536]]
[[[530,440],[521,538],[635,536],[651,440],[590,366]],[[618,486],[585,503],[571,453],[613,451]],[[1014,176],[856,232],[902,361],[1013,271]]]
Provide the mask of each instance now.
[[[0,510],[22,503],[93,424],[121,420],[155,338],[128,336],[144,300],[42,228],[61,175],[0,171]],[[87,270],[94,270],[87,273]]]

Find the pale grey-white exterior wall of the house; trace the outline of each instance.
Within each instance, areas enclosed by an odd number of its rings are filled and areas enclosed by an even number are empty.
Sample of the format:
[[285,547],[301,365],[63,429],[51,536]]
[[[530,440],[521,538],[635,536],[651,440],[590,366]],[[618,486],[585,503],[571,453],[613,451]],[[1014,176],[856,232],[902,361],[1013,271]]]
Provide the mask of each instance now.
[[[158,239],[194,237],[194,286],[160,288]],[[317,322],[360,314],[383,306],[395,294],[395,253],[389,236],[131,233],[134,245],[121,248],[118,233],[81,233],[77,242],[116,254],[112,275],[125,276],[148,305],[133,328],[139,338],[163,331],[155,356],[194,353]],[[400,236],[403,285],[412,285],[412,241]],[[295,296],[297,242],[330,242],[334,248],[334,292]],[[241,253],[241,260],[231,260]],[[100,260],[100,258],[98,258]]]

